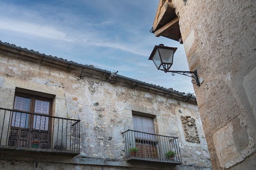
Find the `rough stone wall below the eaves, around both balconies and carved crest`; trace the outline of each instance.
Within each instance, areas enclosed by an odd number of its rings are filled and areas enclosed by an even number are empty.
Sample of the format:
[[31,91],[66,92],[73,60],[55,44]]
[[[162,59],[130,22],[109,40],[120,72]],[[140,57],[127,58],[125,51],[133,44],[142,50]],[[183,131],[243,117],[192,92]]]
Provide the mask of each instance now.
[[[127,168],[134,166],[130,163],[123,163],[126,155],[124,137],[121,132],[133,129],[132,111],[136,111],[155,115],[157,134],[179,137],[184,165],[177,166],[178,168],[186,169],[191,163],[195,163],[198,169],[209,170],[211,168],[202,122],[198,107],[194,104],[171,99],[166,95],[157,95],[150,91],[103,82],[92,77],[81,79],[65,70],[0,54],[0,107],[13,108],[16,87],[56,95],[54,115],[81,120],[79,147],[85,158],[75,159],[84,159],[81,161],[82,164],[87,164],[88,161],[85,160],[88,159],[100,159],[119,161],[119,163],[122,162],[122,166]],[[200,143],[186,141],[181,116],[191,116],[195,119],[193,126],[196,126],[198,130]],[[189,132],[192,134],[193,130]],[[13,157],[15,159],[15,155]],[[6,158],[0,157],[0,159]],[[66,168],[63,168],[63,165],[57,167],[58,164],[50,164],[55,169],[81,168],[74,166],[77,164],[75,159],[65,159],[64,164],[71,164]],[[2,161],[1,166],[4,166],[3,163],[11,165],[12,168],[24,165],[22,158],[17,158],[17,160],[18,162]],[[31,160],[34,159],[31,158]],[[47,169],[48,164],[43,163],[43,160],[43,158],[40,160],[43,165],[41,168]],[[54,160],[52,159],[52,161]],[[26,160],[24,161],[26,162]],[[38,162],[40,163],[40,161]],[[30,164],[26,165],[30,169],[36,166],[33,161]],[[97,165],[95,162],[92,164]],[[101,164],[98,163],[98,165]],[[115,164],[111,164],[111,166],[115,166]],[[117,166],[120,164],[117,163]],[[39,166],[37,168],[40,169]]]

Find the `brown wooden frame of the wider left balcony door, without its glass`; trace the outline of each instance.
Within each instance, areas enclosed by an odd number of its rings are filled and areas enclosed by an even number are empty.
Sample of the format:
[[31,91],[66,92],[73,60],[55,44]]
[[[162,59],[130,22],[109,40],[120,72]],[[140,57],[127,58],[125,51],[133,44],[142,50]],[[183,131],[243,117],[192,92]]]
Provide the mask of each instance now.
[[[41,93],[41,92],[36,92],[36,91],[30,91],[30,90],[22,89],[22,88],[16,88],[16,92],[15,92],[14,100],[13,100],[13,109],[14,110],[19,110],[15,106],[17,97],[23,97],[23,98],[30,99],[29,111],[20,110],[20,112],[18,112],[18,111],[15,113],[13,112],[12,117],[11,117],[11,130],[10,130],[10,135],[9,135],[9,145],[18,146],[18,147],[27,146],[28,148],[30,148],[30,147],[33,147],[33,142],[37,141],[41,148],[50,148],[51,143],[52,143],[52,120],[50,119],[50,117],[47,117],[47,116],[53,116],[53,102],[54,102],[55,95],[50,95],[47,93]],[[43,101],[43,102],[49,102],[49,105],[47,106],[48,114],[35,112],[37,100]],[[28,112],[28,113],[33,113],[33,114],[27,114],[27,113],[22,113],[22,112]],[[28,119],[25,118],[25,126],[24,127],[20,126],[21,123],[18,123],[19,125],[15,126],[16,118],[14,118],[14,124],[13,124],[13,115],[16,116],[17,113],[28,115],[28,116],[26,116],[26,117],[28,117]],[[40,114],[40,115],[34,115],[34,114]],[[43,115],[47,115],[47,116],[44,117]],[[21,119],[21,116],[20,116],[20,119]],[[45,124],[46,120],[47,120],[47,125]],[[31,122],[32,122],[32,124],[31,124]],[[36,126],[36,124],[38,122],[39,122],[39,128]],[[44,122],[44,126],[41,126],[41,124],[43,124],[42,122]],[[33,134],[34,134],[34,136],[33,136]],[[22,135],[23,135],[23,137],[22,137]]]

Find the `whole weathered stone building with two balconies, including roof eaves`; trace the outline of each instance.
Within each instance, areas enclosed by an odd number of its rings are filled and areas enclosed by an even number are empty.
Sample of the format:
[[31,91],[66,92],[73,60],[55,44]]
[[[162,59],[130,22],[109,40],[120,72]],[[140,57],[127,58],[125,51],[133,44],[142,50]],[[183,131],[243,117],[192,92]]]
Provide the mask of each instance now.
[[2,170],[211,170],[195,96],[3,42],[0,153]]

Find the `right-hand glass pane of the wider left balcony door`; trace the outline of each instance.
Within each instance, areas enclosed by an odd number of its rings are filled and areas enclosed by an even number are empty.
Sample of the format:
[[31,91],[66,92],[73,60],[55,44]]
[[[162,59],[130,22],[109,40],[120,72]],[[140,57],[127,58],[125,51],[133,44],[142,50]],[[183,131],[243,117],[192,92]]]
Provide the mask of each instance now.
[[[50,102],[36,100],[35,113],[49,115]],[[37,130],[48,130],[49,117],[34,115],[33,128]]]

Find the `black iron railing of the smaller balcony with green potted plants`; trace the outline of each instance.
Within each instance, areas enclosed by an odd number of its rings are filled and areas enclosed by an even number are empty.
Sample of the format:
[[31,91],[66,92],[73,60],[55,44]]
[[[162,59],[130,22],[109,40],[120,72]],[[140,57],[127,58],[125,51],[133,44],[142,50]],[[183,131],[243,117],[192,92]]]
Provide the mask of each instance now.
[[178,137],[168,137],[136,130],[126,130],[125,138],[127,161],[141,160],[182,164]]

